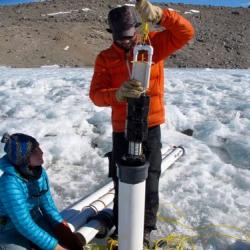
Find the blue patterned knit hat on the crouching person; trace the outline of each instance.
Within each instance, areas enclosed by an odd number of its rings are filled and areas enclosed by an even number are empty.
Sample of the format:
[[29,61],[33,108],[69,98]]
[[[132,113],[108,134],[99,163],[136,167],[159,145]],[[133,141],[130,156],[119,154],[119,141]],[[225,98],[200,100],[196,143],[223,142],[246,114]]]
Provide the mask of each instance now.
[[27,165],[32,151],[39,146],[35,138],[25,134],[5,133],[1,140],[9,161],[15,166]]

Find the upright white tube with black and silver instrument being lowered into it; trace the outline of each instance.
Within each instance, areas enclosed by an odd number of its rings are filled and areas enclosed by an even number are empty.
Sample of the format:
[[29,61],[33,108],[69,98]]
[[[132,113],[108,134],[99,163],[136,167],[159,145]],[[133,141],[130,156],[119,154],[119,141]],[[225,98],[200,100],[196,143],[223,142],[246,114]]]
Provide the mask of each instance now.
[[[147,52],[148,61],[138,61],[139,52]],[[118,162],[118,242],[120,250],[142,250],[145,213],[145,189],[149,163],[142,150],[147,140],[148,111],[150,98],[146,94],[149,85],[153,47],[134,47],[132,79],[144,87],[144,93],[137,98],[128,98],[126,138],[128,153]]]

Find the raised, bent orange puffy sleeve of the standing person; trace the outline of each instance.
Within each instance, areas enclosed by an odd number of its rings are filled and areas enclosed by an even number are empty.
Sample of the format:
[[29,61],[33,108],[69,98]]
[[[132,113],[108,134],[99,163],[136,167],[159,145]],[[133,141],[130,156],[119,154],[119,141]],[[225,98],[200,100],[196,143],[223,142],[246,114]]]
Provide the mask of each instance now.
[[165,30],[152,33],[150,38],[155,48],[154,62],[166,59],[194,37],[192,24],[175,11],[164,9],[160,25]]

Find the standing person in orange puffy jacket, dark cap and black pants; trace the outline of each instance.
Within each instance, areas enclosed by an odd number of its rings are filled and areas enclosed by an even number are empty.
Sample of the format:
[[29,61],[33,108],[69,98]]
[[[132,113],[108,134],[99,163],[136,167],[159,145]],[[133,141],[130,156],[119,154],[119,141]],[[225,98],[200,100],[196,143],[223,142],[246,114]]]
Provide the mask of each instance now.
[[[148,114],[148,138],[143,142],[143,150],[149,161],[146,180],[146,204],[144,242],[150,240],[150,232],[156,229],[156,214],[159,207],[159,178],[161,174],[161,130],[165,122],[164,110],[164,60],[182,48],[194,36],[189,21],[175,11],[161,9],[148,0],[138,0],[136,9],[145,22],[158,24],[162,31],[150,32],[148,43],[154,48],[150,84]],[[108,15],[109,29],[113,43],[96,58],[94,75],[89,96],[97,106],[111,106],[113,126],[113,150],[109,175],[115,184],[114,223],[118,218],[118,179],[116,162],[128,152],[128,141],[124,130],[127,115],[127,98],[138,98],[144,91],[140,82],[131,79],[133,47],[138,43],[139,26],[134,7],[121,6],[112,9]],[[116,231],[117,232],[117,231]]]

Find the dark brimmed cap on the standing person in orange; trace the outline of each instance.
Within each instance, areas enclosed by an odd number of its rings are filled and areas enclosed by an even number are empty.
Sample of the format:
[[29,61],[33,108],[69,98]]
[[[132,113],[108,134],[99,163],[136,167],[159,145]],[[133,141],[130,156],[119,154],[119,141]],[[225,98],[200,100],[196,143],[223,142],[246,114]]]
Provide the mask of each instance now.
[[140,25],[135,8],[127,5],[112,9],[108,14],[108,23],[107,31],[112,33],[114,41],[133,36],[135,28]]

